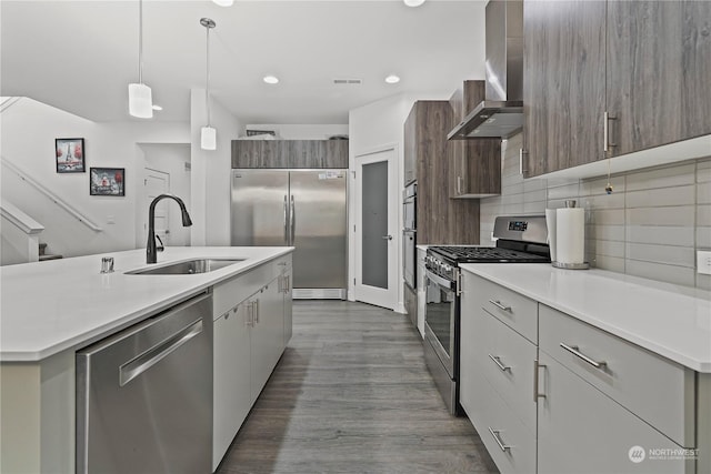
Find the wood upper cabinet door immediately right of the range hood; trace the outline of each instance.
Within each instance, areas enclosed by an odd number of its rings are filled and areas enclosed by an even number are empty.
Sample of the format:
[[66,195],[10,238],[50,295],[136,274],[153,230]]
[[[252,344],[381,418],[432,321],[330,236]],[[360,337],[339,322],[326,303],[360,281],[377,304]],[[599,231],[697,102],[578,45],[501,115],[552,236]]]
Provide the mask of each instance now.
[[525,178],[603,158],[605,2],[523,4]]

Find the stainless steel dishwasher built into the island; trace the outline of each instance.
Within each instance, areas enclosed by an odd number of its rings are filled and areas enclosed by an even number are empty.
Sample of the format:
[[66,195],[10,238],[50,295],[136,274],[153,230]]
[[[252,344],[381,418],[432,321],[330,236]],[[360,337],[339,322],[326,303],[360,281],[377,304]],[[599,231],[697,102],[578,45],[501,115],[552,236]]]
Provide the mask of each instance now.
[[212,297],[77,352],[77,473],[210,473]]

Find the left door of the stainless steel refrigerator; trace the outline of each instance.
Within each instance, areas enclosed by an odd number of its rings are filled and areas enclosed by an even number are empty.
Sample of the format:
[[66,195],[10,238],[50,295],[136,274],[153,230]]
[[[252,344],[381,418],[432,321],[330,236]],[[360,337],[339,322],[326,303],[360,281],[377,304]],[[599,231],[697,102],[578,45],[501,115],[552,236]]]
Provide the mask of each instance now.
[[232,170],[232,245],[288,245],[289,172]]

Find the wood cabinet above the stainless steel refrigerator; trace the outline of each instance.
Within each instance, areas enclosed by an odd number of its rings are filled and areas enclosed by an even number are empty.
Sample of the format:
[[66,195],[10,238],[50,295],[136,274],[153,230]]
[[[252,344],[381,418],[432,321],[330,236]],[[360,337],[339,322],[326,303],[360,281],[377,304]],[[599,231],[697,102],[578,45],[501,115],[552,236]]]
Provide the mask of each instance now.
[[348,168],[348,140],[232,140],[232,168]]

